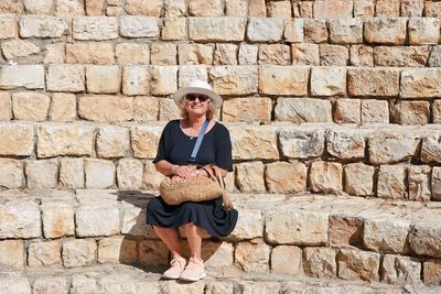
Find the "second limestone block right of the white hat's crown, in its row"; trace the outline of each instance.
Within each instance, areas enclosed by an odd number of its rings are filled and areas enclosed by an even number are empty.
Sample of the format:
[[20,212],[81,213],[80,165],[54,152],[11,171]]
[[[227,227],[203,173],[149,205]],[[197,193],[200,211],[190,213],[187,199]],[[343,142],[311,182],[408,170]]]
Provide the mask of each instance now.
[[308,95],[309,69],[269,65],[259,68],[259,92],[263,95]]

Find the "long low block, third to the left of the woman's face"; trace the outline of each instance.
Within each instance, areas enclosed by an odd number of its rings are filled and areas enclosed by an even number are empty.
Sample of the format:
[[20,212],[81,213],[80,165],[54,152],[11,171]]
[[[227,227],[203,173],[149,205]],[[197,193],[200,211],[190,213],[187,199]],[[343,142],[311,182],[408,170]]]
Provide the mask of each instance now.
[[80,96],[78,116],[92,121],[128,121],[133,118],[133,98],[114,95]]

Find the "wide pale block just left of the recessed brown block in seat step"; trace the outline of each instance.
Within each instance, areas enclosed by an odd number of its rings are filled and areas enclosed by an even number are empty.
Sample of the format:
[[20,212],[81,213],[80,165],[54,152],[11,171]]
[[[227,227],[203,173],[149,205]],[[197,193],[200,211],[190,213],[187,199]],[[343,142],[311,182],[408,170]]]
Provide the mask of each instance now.
[[298,246],[327,243],[327,214],[287,208],[283,211],[271,210],[268,213],[265,219],[265,237],[268,242]]

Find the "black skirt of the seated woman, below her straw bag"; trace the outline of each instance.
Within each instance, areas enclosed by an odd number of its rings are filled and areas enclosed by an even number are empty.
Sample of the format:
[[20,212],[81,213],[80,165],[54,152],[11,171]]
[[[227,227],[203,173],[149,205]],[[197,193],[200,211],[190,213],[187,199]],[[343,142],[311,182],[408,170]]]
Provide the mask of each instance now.
[[147,224],[162,228],[178,228],[189,222],[203,228],[213,237],[228,236],[237,224],[236,209],[223,207],[222,197],[208,202],[168,205],[161,196],[147,207]]

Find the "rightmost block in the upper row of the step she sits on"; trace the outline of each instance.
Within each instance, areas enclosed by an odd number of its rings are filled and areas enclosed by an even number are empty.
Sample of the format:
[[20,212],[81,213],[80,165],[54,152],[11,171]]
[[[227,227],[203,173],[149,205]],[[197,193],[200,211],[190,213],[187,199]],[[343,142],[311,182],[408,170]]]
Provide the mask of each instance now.
[[420,255],[441,257],[441,226],[433,221],[415,224],[409,233],[410,248]]

